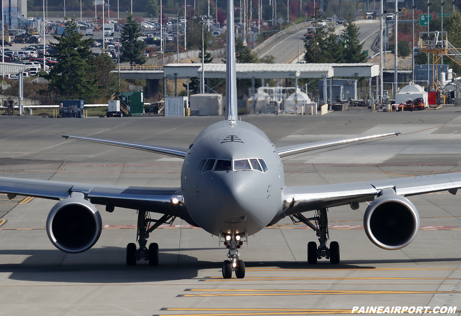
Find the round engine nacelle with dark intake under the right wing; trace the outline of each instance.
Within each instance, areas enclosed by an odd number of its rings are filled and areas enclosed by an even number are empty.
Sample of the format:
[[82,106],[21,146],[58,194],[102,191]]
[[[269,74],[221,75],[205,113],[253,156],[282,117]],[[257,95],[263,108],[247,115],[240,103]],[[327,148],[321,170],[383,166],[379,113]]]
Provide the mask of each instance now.
[[420,215],[407,198],[383,195],[366,208],[363,216],[365,233],[373,244],[387,250],[410,244],[420,228]]

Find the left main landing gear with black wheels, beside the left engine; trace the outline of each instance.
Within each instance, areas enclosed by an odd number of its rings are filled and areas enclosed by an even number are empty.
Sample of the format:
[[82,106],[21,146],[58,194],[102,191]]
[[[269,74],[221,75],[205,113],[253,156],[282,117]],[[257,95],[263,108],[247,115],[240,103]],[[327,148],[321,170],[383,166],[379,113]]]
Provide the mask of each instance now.
[[[150,218],[149,212],[138,210],[136,241],[139,244],[139,248],[136,249],[136,244],[134,243],[126,246],[126,264],[134,266],[141,259],[148,261],[151,266],[159,264],[159,245],[151,243],[149,244],[149,248],[146,248],[147,238],[149,238],[149,233],[152,233],[155,228],[161,224],[171,225],[175,219],[176,216],[163,215],[159,220],[153,220]],[[154,225],[150,226],[151,223],[154,223]]]

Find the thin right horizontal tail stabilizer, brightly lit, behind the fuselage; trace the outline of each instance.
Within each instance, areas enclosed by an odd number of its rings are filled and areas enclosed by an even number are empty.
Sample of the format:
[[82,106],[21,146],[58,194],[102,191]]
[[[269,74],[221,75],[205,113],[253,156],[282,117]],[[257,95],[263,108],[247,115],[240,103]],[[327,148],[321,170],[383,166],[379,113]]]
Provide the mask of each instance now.
[[286,157],[289,155],[304,153],[306,151],[322,149],[326,147],[332,147],[332,146],[343,145],[343,144],[348,144],[348,143],[355,143],[355,142],[360,142],[363,140],[370,140],[374,138],[397,136],[399,134],[401,134],[401,132],[396,131],[393,133],[377,134],[377,135],[370,135],[370,136],[363,136],[363,137],[334,139],[334,140],[328,140],[328,141],[323,141],[323,142],[290,145],[290,146],[278,147],[276,148],[276,151],[280,157]]

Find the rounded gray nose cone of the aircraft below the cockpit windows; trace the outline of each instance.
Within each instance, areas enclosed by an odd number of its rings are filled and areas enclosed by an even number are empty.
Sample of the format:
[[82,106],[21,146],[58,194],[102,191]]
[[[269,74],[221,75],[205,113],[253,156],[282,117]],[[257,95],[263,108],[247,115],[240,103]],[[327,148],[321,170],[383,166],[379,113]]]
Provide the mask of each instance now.
[[253,185],[250,179],[227,173],[213,185],[213,202],[219,211],[230,217],[242,214],[253,203]]

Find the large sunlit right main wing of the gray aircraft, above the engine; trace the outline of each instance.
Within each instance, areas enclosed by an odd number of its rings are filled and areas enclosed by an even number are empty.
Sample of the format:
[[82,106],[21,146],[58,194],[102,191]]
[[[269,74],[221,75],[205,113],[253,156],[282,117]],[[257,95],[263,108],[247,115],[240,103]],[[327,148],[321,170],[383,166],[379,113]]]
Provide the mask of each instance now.
[[461,188],[461,173],[376,180],[334,185],[286,186],[284,200],[293,198],[285,215],[315,209],[346,205],[350,202],[372,201],[381,190],[392,189],[397,195],[409,197],[431,192],[449,191],[456,194]]

